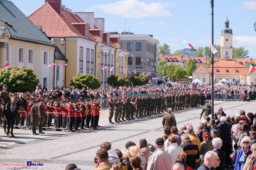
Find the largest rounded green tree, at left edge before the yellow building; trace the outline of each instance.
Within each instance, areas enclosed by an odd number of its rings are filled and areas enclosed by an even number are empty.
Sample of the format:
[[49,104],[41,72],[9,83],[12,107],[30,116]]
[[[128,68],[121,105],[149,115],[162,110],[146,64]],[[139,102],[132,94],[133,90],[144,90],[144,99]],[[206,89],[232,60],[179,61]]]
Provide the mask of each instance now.
[[25,66],[13,65],[7,69],[0,69],[0,86],[6,84],[9,92],[32,92],[38,83],[39,79],[36,78],[34,71]]

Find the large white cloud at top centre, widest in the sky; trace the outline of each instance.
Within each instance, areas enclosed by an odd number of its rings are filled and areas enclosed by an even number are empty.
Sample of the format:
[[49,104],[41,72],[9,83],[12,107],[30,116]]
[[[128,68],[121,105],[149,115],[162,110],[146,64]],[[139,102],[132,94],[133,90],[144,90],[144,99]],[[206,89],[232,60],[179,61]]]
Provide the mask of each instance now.
[[176,3],[170,2],[151,2],[145,3],[139,0],[122,0],[111,4],[99,4],[90,6],[86,11],[100,9],[106,13],[119,15],[127,18],[144,18],[144,17],[174,17],[169,11],[165,10],[169,6],[176,6]]

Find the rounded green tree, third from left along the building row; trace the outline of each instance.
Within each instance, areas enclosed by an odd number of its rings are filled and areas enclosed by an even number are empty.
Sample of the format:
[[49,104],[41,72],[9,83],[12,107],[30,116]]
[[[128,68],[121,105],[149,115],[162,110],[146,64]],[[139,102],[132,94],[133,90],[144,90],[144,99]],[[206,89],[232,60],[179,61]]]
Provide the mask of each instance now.
[[114,86],[128,86],[130,84],[130,79],[128,76],[116,74],[108,77],[108,84],[113,84]]

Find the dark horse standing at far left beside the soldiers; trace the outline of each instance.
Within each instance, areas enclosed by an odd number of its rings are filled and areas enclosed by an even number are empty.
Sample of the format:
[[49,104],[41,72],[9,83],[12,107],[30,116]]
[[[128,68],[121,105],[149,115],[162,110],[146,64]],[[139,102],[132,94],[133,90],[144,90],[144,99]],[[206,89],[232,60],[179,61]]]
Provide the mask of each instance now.
[[[10,109],[8,109],[7,113],[4,113],[4,117],[7,120],[7,138],[11,138],[9,135],[10,128],[11,128],[11,135],[12,138],[15,136],[13,135],[13,126],[16,120],[16,115],[18,114],[18,111],[20,107],[23,107],[25,111],[27,111],[27,101],[23,97],[20,97],[19,99],[16,99],[11,103]],[[4,131],[6,132],[6,129],[4,128]]]

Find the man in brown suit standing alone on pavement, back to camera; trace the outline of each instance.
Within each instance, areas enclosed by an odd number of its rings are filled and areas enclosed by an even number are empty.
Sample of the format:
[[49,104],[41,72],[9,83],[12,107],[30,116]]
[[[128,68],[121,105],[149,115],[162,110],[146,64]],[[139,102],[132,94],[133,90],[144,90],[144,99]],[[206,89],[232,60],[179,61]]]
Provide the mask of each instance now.
[[164,130],[164,134],[170,135],[171,134],[171,127],[176,126],[176,120],[175,120],[175,116],[172,115],[172,108],[171,107],[169,107],[167,109],[167,112],[168,113],[163,116],[162,126],[163,126],[163,130]]

